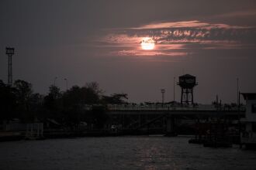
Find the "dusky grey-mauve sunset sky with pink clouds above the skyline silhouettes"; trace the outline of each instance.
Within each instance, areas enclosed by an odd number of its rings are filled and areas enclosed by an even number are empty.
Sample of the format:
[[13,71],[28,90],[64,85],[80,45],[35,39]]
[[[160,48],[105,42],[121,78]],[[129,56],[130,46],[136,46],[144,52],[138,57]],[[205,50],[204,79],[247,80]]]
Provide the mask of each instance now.
[[2,0],[0,22],[0,80],[13,46],[13,79],[35,92],[47,93],[57,76],[61,90],[67,78],[69,87],[96,81],[130,102],[160,101],[164,88],[170,101],[174,76],[185,73],[197,78],[198,103],[216,94],[236,102],[237,77],[241,92],[256,92],[254,0]]

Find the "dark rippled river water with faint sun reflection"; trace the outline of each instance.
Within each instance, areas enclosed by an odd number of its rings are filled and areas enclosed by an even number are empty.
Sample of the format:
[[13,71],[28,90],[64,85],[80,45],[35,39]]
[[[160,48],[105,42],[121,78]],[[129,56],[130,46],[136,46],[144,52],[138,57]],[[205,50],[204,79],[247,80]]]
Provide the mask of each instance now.
[[256,151],[189,138],[108,137],[0,143],[0,169],[256,169]]

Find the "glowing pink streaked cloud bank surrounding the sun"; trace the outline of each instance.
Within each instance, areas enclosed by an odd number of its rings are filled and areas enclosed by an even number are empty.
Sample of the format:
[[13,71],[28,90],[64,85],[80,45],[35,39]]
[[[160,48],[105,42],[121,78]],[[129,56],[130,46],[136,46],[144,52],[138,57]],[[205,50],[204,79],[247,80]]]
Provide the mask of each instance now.
[[[140,42],[151,37],[154,50],[142,50]],[[98,39],[117,56],[186,56],[195,49],[256,49],[256,28],[192,21],[157,22],[144,26],[110,29]],[[196,48],[195,48],[196,47]]]

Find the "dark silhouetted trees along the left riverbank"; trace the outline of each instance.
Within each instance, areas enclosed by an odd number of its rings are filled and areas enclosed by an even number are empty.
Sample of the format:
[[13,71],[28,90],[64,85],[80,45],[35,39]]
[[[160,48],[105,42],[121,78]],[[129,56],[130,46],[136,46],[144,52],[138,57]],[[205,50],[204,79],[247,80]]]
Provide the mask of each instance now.
[[[104,95],[99,84],[86,83],[61,91],[50,85],[46,95],[33,92],[33,86],[24,80],[16,80],[12,86],[0,80],[0,121],[14,118],[23,123],[54,120],[64,127],[76,127],[80,122],[103,128],[108,119],[106,104],[125,104],[126,93]],[[85,110],[92,105],[92,110]]]

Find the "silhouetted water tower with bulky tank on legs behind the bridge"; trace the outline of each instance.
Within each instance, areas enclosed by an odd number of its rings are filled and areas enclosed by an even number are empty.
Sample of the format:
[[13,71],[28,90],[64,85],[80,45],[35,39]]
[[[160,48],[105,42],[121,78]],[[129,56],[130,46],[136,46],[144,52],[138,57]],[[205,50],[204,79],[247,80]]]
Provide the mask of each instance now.
[[178,83],[182,88],[181,104],[194,104],[193,88],[197,85],[195,76],[185,74],[178,77]]

